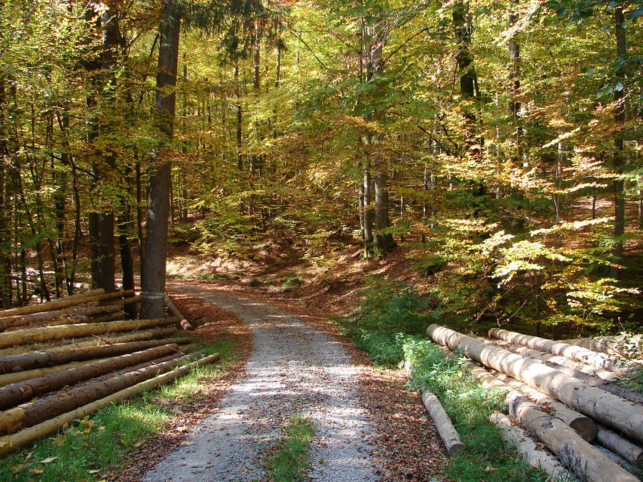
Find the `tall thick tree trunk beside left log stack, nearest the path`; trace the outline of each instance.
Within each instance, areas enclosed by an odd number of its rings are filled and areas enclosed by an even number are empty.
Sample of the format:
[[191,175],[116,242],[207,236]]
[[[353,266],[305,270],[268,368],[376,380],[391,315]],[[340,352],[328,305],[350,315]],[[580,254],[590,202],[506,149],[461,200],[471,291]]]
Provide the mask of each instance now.
[[169,186],[171,161],[169,144],[174,135],[176,94],[165,89],[176,86],[176,69],[179,65],[179,31],[176,0],[164,0],[160,26],[159,73],[156,74],[156,114],[159,131],[163,136],[159,151],[160,165],[149,179],[149,205],[147,208],[147,235],[143,265],[143,306],[141,316],[159,318],[165,312],[165,276],[167,260],[167,219],[169,214]]

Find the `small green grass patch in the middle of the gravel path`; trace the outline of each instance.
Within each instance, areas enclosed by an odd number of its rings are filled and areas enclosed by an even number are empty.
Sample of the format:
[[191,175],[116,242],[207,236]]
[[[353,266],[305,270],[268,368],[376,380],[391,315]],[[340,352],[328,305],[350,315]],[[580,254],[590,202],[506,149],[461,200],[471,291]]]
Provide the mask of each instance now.
[[281,438],[266,457],[269,481],[303,481],[310,463],[308,453],[314,428],[307,418],[291,416],[281,429]]

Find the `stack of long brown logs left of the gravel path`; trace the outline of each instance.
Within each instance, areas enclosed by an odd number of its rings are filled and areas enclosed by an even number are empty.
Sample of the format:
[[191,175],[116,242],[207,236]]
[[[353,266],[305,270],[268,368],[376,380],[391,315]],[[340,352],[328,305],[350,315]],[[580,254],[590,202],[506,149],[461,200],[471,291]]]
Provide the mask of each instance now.
[[213,363],[171,316],[124,319],[134,291],[101,290],[0,311],[0,454],[134,393]]

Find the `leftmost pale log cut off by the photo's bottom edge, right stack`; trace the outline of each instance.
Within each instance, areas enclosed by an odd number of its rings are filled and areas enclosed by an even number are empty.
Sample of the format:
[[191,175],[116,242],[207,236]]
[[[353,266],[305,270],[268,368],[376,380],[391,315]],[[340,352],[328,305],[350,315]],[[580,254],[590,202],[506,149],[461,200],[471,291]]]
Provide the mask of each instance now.
[[514,447],[530,466],[549,473],[554,480],[567,480],[567,468],[564,468],[552,454],[540,450],[536,442],[522,428],[514,426],[507,416],[492,413],[489,421],[502,433],[502,439],[507,445]]

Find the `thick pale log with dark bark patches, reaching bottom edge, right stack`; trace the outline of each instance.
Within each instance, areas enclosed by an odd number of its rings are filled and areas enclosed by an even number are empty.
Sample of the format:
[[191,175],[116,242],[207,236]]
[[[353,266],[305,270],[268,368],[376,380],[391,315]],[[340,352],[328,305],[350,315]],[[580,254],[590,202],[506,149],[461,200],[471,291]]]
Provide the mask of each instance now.
[[519,393],[507,395],[509,414],[537,436],[559,461],[589,482],[634,482],[638,479],[597,451],[558,418],[534,409]]

